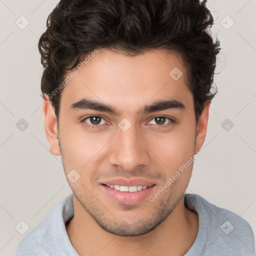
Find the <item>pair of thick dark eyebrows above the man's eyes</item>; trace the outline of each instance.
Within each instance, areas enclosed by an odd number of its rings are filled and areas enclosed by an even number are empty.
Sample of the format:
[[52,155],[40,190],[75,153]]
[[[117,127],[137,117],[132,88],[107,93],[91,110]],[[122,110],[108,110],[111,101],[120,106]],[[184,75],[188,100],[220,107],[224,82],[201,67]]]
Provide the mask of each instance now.
[[[96,111],[107,112],[113,115],[120,115],[120,111],[115,107],[101,103],[99,101],[90,100],[87,98],[82,98],[79,101],[71,104],[70,109],[74,110],[83,110],[83,109],[93,109]],[[150,105],[145,105],[142,109],[137,111],[136,114],[147,114],[155,111],[161,111],[166,109],[185,109],[185,106],[182,102],[176,99],[169,100],[157,100]]]

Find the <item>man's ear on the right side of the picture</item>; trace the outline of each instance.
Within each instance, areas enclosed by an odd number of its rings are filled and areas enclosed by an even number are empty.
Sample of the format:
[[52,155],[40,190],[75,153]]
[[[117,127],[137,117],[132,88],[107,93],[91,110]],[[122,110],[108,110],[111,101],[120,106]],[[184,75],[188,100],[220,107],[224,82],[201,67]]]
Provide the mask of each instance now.
[[202,113],[198,117],[196,125],[196,138],[195,138],[195,152],[198,152],[204,142],[209,117],[210,100],[208,100],[202,110]]

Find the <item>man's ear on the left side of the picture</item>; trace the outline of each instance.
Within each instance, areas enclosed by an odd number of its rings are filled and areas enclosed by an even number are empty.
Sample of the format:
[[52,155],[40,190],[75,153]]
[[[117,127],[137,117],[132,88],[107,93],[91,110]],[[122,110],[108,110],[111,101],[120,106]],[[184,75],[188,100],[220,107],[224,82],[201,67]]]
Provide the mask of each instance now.
[[57,118],[49,99],[43,99],[42,113],[44,115],[44,129],[46,137],[50,143],[49,150],[54,155],[60,155]]

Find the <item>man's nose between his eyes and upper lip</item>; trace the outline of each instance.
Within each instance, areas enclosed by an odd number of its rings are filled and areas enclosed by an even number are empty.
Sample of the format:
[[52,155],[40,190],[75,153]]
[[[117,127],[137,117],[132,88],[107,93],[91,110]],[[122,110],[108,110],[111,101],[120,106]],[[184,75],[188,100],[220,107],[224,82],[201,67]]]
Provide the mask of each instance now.
[[[140,132],[141,133],[141,132]],[[111,140],[108,156],[112,165],[119,165],[125,171],[143,167],[149,163],[149,152],[141,134],[136,132],[135,125],[123,131],[117,129],[117,134]]]

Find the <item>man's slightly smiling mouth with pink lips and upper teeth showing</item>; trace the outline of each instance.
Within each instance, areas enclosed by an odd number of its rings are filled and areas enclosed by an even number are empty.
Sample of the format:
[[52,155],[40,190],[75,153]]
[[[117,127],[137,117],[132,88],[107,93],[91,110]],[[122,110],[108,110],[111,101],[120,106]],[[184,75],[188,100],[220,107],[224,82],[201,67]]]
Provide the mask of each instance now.
[[153,191],[155,183],[145,180],[115,179],[99,184],[104,195],[119,204],[137,204],[145,200]]

